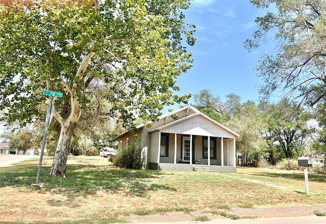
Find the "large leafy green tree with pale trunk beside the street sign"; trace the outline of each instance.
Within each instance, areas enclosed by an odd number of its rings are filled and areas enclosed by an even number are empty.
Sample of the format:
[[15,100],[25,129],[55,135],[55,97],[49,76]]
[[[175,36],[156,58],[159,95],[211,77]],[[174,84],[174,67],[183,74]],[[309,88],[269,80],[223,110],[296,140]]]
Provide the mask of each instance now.
[[164,105],[187,100],[174,91],[176,77],[192,62],[182,41],[195,41],[183,23],[188,0],[0,3],[3,119],[22,125],[44,119],[42,91],[64,93],[55,100],[60,136],[50,176],[66,176],[71,136],[95,80],[107,85],[107,114],[125,124],[137,116],[155,120]]

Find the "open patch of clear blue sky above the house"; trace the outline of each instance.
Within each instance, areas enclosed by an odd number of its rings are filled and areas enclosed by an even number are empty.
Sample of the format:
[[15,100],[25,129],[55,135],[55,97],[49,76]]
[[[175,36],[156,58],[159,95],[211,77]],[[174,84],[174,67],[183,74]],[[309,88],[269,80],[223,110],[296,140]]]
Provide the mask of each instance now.
[[[196,44],[188,48],[195,60],[193,67],[177,78],[176,86],[181,88],[178,95],[208,89],[222,100],[234,93],[242,102],[257,102],[263,81],[255,68],[262,53],[275,51],[274,43],[266,39],[249,52],[243,41],[252,37],[255,18],[264,14],[249,0],[194,0],[185,12],[185,21],[197,25]],[[193,103],[193,98],[189,102]]]

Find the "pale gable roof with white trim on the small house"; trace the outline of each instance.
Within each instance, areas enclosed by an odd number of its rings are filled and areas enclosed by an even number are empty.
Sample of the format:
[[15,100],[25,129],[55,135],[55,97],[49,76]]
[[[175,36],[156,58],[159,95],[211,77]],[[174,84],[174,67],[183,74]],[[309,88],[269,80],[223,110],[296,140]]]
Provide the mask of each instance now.
[[[180,118],[180,119],[177,119],[177,120],[173,119],[171,122],[167,123],[168,118],[171,118],[172,115],[181,114],[181,113],[185,113],[185,116]],[[161,130],[161,129],[176,125],[176,124],[178,124],[180,122],[184,122],[184,121],[186,121],[188,119],[193,119],[193,118],[195,118],[197,116],[200,116],[201,118],[203,118],[205,120],[208,120],[209,122],[213,123],[214,125],[220,127],[221,129],[224,129],[225,131],[227,131],[227,132],[229,132],[229,133],[231,133],[231,134],[233,134],[233,135],[235,135],[237,137],[240,136],[235,131],[232,131],[231,129],[229,129],[229,128],[225,127],[224,125],[220,124],[219,122],[211,119],[210,117],[208,117],[207,115],[201,113],[198,109],[194,108],[191,105],[182,107],[180,109],[177,109],[177,110],[174,110],[174,111],[170,112],[169,114],[162,115],[162,116],[158,117],[158,121],[162,121],[163,119],[165,119],[166,122],[164,123],[164,125],[161,125],[159,127],[155,127],[153,129],[149,130],[149,132]],[[138,129],[144,127],[145,125],[148,125],[148,124],[151,124],[151,123],[153,123],[153,122],[150,121],[150,122],[148,122],[146,124],[139,125],[139,126],[136,127],[136,129],[138,130]],[[194,129],[200,129],[200,128],[196,127]],[[202,131],[205,131],[205,130],[202,130]],[[122,133],[121,135],[115,137],[114,139],[118,139],[119,137],[121,137],[121,136],[123,136],[123,135],[125,135],[127,133],[128,133],[128,131]],[[209,134],[207,134],[207,135],[209,135]]]

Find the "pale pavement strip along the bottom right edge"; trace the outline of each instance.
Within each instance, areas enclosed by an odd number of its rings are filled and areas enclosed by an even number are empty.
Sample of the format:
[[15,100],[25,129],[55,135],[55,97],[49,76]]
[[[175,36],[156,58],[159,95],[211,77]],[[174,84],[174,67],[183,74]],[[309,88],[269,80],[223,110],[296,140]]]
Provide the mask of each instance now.
[[[286,206],[267,207],[253,209],[231,209],[225,211],[228,214],[239,216],[239,219],[232,220],[223,216],[206,215],[210,219],[205,224],[325,224],[326,216],[316,216],[314,211],[326,212],[326,205]],[[245,218],[245,217],[248,218]],[[167,214],[156,214],[146,216],[130,216],[125,218],[128,223],[137,224],[195,224],[194,217],[182,212],[170,212]],[[173,221],[174,220],[174,221]]]

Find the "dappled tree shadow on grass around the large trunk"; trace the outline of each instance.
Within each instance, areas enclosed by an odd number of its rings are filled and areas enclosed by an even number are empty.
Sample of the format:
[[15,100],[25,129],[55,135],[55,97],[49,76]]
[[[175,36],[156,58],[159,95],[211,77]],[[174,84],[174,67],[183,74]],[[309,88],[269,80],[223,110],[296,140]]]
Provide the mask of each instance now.
[[[44,183],[44,187],[39,190],[40,192],[50,191],[77,197],[103,190],[110,193],[146,197],[148,192],[154,190],[176,190],[168,184],[150,181],[150,179],[159,178],[161,175],[159,171],[115,169],[110,166],[95,165],[67,165],[67,178],[49,177],[49,173],[49,166],[42,167],[40,183]],[[29,187],[35,183],[36,174],[37,166],[7,167],[0,171],[0,187]],[[53,203],[60,204],[60,202]]]

